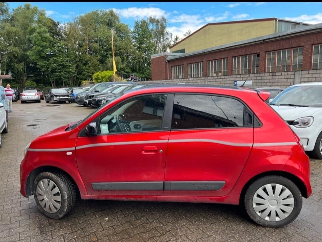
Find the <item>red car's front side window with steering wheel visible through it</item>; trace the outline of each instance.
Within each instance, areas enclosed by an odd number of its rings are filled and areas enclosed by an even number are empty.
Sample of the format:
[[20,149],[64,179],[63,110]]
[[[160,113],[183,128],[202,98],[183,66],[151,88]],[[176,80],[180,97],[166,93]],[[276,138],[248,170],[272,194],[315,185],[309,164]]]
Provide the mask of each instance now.
[[132,98],[99,119],[98,134],[161,130],[167,95]]

